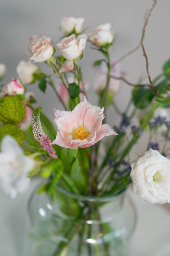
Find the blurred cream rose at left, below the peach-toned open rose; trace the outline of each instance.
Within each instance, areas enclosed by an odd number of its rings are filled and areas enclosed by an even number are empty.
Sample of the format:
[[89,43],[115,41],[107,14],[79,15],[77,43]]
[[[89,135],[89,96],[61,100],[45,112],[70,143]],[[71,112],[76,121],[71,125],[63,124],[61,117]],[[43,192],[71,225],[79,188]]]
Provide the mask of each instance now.
[[38,69],[39,67],[30,61],[20,61],[17,66],[17,74],[22,83],[27,84],[33,81],[33,73]]

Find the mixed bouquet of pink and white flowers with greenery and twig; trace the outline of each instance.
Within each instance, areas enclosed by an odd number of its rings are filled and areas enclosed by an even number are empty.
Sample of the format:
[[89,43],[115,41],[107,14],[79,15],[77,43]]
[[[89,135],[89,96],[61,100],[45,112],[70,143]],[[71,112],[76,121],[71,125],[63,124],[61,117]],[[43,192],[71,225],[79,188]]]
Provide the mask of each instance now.
[[[46,182],[38,192],[47,193],[51,201],[58,199],[62,213],[72,211],[76,219],[80,215],[84,219],[92,218],[97,208],[94,210],[90,201],[84,205],[75,204],[73,200],[64,202],[65,197],[57,188],[83,197],[104,198],[121,194],[133,183],[133,191],[140,198],[150,203],[170,202],[170,160],[167,158],[170,154],[170,60],[164,63],[160,75],[152,80],[143,44],[155,4],[146,18],[140,41],[146,59],[148,84],[141,81],[131,83],[125,79],[121,61],[132,51],[120,59],[112,58],[112,45],[116,40],[108,23],[86,35],[82,29],[83,18],[65,17],[60,26],[63,39],[56,48],[49,37],[30,37],[29,61],[18,64],[17,79],[1,85],[0,187],[4,192],[15,197],[28,188],[33,176],[40,175]],[[88,83],[83,80],[80,67],[86,43],[99,53],[99,59],[94,63],[98,106],[88,102]],[[56,89],[51,73],[46,74],[40,69],[40,62],[48,65],[49,72],[51,70],[57,77],[59,89]],[[5,66],[1,64],[1,80],[4,73]],[[133,86],[124,112],[115,102],[122,82]],[[51,86],[62,104],[64,110],[54,106],[54,123],[40,106],[34,107],[36,96],[27,92],[28,84],[32,83],[38,84],[44,93],[46,87]],[[119,124],[113,120],[113,127],[107,124],[109,108],[121,118]],[[137,117],[138,123],[135,121]],[[132,159],[133,146],[143,133],[149,134],[145,137],[146,152],[141,156],[136,154],[136,160]],[[156,140],[157,134],[160,144]],[[109,229],[104,224],[100,228],[101,236],[102,230]],[[68,241],[73,238],[70,234],[73,229],[72,226],[65,234]],[[83,232],[87,232],[86,228],[79,229],[81,238]],[[92,240],[90,228],[88,234]],[[89,256],[92,255],[91,240],[87,241]],[[60,243],[51,255],[66,255],[64,243]],[[102,255],[111,255],[106,241],[104,244],[105,254]],[[83,255],[80,252],[79,248],[77,255]]]

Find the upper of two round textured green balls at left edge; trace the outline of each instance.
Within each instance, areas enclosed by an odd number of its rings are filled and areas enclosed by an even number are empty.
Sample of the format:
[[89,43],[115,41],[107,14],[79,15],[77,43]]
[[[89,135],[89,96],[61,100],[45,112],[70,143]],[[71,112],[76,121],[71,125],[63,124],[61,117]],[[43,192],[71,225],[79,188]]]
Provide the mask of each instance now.
[[16,96],[7,96],[1,99],[0,122],[19,124],[26,116],[26,109]]

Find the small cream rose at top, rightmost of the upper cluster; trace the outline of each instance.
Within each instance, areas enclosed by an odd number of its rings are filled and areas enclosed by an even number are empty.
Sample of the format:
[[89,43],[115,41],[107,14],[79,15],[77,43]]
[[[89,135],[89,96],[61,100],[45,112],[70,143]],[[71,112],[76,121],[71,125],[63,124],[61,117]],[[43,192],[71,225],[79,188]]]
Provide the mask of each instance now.
[[88,35],[88,39],[97,46],[105,46],[107,43],[113,41],[113,31],[111,31],[111,24],[102,24]]

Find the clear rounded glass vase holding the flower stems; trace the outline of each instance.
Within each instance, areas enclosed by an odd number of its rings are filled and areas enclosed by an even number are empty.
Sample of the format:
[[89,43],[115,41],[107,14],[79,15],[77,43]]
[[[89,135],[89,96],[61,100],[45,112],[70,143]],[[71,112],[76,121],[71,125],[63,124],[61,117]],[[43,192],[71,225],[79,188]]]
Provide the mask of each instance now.
[[27,256],[128,256],[136,211],[125,192],[86,197],[56,186],[37,188],[28,205]]

